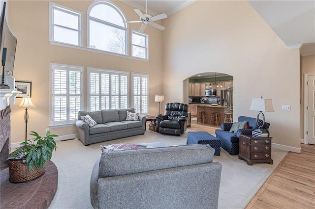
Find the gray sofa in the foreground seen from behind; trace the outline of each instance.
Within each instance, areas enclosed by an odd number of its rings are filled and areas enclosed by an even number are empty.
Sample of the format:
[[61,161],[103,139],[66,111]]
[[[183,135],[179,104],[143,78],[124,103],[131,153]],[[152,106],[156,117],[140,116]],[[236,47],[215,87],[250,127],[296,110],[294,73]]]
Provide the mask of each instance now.
[[104,152],[92,171],[96,209],[216,209],[222,165],[209,145]]

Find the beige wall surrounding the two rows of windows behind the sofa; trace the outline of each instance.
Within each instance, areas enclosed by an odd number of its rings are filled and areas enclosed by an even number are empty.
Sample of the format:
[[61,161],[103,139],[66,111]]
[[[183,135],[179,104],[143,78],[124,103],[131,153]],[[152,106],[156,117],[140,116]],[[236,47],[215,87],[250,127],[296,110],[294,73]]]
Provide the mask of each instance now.
[[[84,46],[86,46],[86,13],[90,0],[53,1],[57,4],[73,8],[84,13]],[[127,20],[138,20],[133,8],[121,1],[114,1],[126,15]],[[86,84],[87,67],[139,72],[149,74],[149,112],[158,114],[158,103],[154,102],[155,95],[162,93],[162,31],[148,26],[145,30],[149,34],[150,61],[140,61],[121,56],[89,52],[49,43],[49,1],[21,0],[8,1],[9,26],[18,39],[14,77],[16,80],[32,81],[32,102],[36,108],[29,109],[29,131],[44,134],[49,126],[49,63],[84,66],[84,82]],[[140,24],[130,24],[130,28],[139,29]],[[130,48],[130,46],[128,46]],[[86,108],[86,85],[84,86],[84,107]],[[11,142],[21,142],[25,137],[24,109],[17,109],[21,102],[11,105]],[[131,104],[129,104],[131,105]],[[56,128],[51,131],[58,135],[77,133],[74,125]]]

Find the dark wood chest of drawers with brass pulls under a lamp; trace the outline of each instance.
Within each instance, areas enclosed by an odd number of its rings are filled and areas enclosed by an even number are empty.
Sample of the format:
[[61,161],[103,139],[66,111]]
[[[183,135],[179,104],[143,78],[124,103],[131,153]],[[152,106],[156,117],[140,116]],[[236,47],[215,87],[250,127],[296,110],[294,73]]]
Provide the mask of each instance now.
[[254,162],[268,162],[273,164],[271,159],[271,139],[272,137],[253,137],[252,135],[240,135],[239,159],[244,159],[247,164]]

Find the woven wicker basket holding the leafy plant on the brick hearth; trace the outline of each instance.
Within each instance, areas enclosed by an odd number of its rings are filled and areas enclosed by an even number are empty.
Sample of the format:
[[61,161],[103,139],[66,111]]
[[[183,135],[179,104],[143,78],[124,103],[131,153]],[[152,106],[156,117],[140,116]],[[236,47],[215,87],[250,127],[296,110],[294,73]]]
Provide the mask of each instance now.
[[9,165],[9,181],[11,183],[23,183],[34,180],[45,173],[46,163],[44,168],[38,168],[34,166],[32,171],[29,171],[28,164],[22,159],[10,159]]

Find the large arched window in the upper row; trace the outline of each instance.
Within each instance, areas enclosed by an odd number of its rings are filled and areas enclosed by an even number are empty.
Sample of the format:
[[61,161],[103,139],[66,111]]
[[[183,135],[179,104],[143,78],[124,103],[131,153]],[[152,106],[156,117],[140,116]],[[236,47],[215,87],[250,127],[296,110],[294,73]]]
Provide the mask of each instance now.
[[123,12],[111,2],[94,1],[89,7],[88,46],[127,54],[127,26]]

